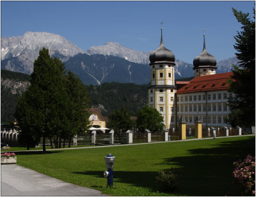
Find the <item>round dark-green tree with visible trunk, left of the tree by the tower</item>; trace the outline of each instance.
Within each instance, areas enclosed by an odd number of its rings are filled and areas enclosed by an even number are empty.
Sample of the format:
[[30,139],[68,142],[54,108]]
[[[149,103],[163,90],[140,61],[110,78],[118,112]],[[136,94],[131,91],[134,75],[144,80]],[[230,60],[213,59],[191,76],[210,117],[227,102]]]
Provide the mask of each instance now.
[[122,107],[121,110],[116,109],[108,117],[108,128],[115,131],[115,134],[118,135],[120,143],[122,133],[132,129],[133,126],[134,122],[131,120],[130,113],[124,107]]

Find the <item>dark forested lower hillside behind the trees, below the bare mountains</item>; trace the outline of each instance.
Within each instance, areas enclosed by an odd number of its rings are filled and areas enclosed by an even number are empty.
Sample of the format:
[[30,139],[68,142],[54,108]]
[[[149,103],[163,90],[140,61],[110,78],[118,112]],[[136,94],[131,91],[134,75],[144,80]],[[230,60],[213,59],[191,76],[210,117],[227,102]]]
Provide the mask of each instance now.
[[[193,77],[192,77],[193,78]],[[182,78],[180,80],[191,80]],[[9,124],[17,100],[28,89],[30,75],[1,69],[1,123]],[[99,108],[102,115],[108,116],[116,108],[124,106],[132,116],[147,105],[147,88],[149,84],[121,84],[118,82],[89,85],[88,91],[94,108]]]

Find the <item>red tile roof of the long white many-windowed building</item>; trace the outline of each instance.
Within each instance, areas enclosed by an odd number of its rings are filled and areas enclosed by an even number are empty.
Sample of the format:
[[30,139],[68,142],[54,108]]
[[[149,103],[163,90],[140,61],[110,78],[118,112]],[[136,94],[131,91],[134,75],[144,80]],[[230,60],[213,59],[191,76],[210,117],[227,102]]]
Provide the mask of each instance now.
[[228,89],[227,79],[230,78],[231,75],[232,72],[195,77],[189,84],[180,88],[177,94]]

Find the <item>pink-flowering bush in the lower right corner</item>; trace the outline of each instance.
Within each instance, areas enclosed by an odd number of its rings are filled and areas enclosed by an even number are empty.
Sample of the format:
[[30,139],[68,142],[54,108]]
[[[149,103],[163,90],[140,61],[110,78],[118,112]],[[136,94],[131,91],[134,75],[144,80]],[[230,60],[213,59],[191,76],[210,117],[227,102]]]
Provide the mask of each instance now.
[[234,162],[234,184],[237,184],[242,195],[255,196],[255,157],[248,155],[242,162]]

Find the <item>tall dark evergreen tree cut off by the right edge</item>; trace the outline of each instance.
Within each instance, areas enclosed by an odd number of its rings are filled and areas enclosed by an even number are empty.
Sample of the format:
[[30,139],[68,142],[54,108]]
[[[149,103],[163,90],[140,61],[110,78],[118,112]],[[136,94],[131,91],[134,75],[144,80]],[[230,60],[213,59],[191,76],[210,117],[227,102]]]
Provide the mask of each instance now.
[[229,91],[236,96],[228,100],[231,113],[227,121],[232,126],[252,126],[255,125],[255,10],[254,20],[249,13],[232,10],[243,30],[234,36],[239,66],[234,66],[231,80],[228,80]]

